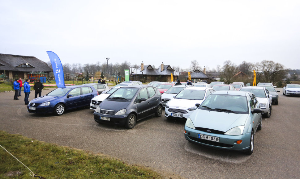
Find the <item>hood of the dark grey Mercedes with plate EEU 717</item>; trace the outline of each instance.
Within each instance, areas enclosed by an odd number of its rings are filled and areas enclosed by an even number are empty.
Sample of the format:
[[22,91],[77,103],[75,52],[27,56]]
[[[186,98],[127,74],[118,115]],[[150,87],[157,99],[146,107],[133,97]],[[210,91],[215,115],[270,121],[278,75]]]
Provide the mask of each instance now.
[[100,109],[114,110],[118,112],[121,109],[125,109],[131,101],[126,100],[110,100],[105,99],[101,102]]

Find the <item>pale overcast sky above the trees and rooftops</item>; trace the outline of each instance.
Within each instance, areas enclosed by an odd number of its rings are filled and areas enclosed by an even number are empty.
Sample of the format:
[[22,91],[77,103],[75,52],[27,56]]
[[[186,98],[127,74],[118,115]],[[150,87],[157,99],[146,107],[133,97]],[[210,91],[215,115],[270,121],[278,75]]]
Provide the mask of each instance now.
[[300,1],[0,0],[0,53],[66,63],[300,69]]

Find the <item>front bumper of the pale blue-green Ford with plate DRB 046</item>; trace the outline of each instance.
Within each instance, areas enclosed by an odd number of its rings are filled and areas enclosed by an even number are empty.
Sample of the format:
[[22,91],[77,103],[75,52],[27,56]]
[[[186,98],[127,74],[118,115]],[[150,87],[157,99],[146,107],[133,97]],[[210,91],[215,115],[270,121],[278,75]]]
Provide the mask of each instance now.
[[[243,151],[243,150],[247,150],[250,145],[251,133],[246,133],[243,135],[212,134],[209,132],[191,129],[186,126],[184,127],[184,130],[186,131],[186,133],[184,133],[184,137],[186,138],[186,140],[189,140],[195,144],[204,145],[206,147],[219,148],[219,149],[225,149],[225,150]],[[200,138],[198,138],[198,134],[219,137],[220,141],[215,142],[215,141],[200,139]],[[236,142],[238,140],[242,140],[242,143],[237,144]]]

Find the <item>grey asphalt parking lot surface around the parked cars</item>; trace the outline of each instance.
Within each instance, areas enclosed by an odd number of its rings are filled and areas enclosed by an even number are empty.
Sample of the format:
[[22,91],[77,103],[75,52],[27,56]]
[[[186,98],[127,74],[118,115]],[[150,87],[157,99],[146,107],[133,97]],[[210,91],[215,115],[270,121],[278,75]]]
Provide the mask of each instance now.
[[128,130],[96,123],[88,108],[62,116],[30,114],[24,95],[13,100],[14,92],[0,93],[0,130],[102,153],[174,174],[172,178],[300,178],[300,97],[286,97],[282,88],[277,90],[279,104],[272,105],[270,118],[263,118],[251,156],[191,144],[184,138],[185,122],[164,115],[138,121]]

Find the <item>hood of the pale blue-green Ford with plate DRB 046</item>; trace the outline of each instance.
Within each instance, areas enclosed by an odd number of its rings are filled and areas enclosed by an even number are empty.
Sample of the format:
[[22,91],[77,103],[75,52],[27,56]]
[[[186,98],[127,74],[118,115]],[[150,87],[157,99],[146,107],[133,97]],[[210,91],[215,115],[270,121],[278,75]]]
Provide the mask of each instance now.
[[195,127],[226,132],[233,127],[245,125],[248,115],[197,109],[190,115],[190,119]]

